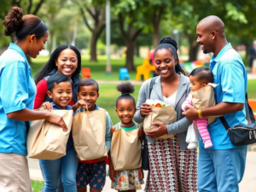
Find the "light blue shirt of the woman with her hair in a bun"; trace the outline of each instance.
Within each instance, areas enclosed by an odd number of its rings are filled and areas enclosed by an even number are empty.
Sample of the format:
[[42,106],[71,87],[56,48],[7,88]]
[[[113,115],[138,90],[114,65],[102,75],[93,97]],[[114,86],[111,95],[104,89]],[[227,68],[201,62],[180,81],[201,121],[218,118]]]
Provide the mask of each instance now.
[[27,154],[26,123],[7,114],[33,109],[37,89],[31,72],[22,49],[9,44],[0,56],[0,153]]

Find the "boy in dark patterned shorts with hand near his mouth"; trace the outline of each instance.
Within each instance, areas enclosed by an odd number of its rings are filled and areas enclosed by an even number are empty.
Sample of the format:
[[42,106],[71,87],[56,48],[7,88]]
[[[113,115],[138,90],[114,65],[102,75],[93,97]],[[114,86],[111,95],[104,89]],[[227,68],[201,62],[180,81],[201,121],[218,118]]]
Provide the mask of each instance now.
[[[99,110],[96,101],[99,94],[99,86],[93,79],[82,79],[79,82],[77,96],[79,102],[73,105],[73,111],[76,111],[81,106],[86,106],[89,111]],[[111,135],[110,129],[113,126],[112,120],[108,112],[106,112],[106,136],[105,144],[107,152],[110,150]],[[78,172],[77,172],[77,188],[78,192],[85,192],[87,184],[90,183],[90,192],[102,191],[106,182],[106,163],[108,163],[108,157],[103,157],[97,160],[79,160]]]

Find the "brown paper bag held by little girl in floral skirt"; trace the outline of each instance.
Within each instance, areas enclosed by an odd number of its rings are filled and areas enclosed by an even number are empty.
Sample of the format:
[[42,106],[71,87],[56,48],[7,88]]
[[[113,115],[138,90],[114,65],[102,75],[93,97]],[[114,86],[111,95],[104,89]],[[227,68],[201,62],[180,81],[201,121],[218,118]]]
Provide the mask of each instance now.
[[137,169],[142,166],[142,143],[138,137],[139,129],[113,132],[111,160],[115,171]]

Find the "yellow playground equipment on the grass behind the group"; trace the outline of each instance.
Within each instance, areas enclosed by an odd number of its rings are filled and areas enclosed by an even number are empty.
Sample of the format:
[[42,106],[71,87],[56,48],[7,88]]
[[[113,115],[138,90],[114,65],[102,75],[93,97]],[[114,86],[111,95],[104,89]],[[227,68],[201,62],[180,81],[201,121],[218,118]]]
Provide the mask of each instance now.
[[148,58],[143,60],[143,65],[138,66],[136,74],[136,80],[139,81],[141,76],[143,75],[144,80],[149,79],[150,72],[155,70],[155,67],[149,64]]

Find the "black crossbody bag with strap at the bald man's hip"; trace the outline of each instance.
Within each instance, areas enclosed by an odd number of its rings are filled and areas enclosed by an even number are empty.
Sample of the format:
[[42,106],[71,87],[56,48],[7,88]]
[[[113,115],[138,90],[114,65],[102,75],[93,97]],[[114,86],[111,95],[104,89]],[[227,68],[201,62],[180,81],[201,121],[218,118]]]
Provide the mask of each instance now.
[[229,133],[230,141],[235,146],[245,146],[248,144],[256,143],[256,124],[253,115],[253,110],[247,102],[246,94],[246,111],[249,114],[248,122],[251,120],[251,123],[248,125],[234,125],[233,128],[230,128],[230,125],[227,123],[224,117],[219,117],[224,128]]

